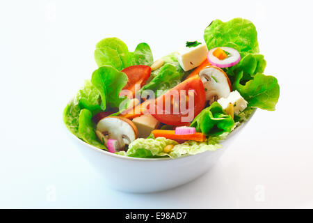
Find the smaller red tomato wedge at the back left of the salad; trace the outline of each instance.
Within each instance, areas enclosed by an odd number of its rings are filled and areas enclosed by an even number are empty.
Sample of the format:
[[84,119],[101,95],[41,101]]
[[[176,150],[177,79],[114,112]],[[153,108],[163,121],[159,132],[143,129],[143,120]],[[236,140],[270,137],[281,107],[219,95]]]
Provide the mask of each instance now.
[[145,84],[147,79],[150,77],[151,68],[150,66],[145,65],[134,65],[123,69],[122,72],[125,72],[128,77],[128,82],[122,90],[131,91],[132,96],[134,97],[136,91],[140,89],[135,89],[135,85],[138,84],[143,86]]

